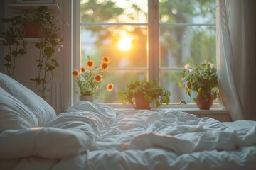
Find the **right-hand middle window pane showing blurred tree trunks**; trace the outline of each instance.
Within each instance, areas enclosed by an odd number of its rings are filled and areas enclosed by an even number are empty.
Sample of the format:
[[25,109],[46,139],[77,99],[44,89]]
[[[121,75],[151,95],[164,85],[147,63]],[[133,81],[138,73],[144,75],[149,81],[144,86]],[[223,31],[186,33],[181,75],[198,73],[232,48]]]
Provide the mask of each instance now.
[[215,48],[215,27],[160,27],[160,67],[183,68],[205,60],[215,64]]

